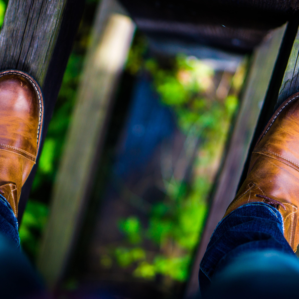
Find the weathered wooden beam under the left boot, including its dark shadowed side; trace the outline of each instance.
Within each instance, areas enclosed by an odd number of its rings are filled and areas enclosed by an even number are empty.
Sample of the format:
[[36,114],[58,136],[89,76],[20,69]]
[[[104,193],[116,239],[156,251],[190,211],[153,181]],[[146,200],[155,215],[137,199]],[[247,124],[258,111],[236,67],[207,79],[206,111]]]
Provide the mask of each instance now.
[[[0,70],[29,73],[44,94],[46,134],[73,40],[82,17],[84,0],[11,0],[0,32]],[[20,221],[35,167],[22,188]]]

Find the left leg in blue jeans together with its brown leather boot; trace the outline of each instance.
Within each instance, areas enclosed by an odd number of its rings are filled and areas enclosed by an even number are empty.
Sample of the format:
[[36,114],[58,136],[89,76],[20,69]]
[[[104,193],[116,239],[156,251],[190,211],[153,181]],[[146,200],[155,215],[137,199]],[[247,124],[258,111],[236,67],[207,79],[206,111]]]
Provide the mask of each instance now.
[[20,250],[17,206],[38,153],[43,99],[35,80],[0,72],[0,297],[46,298],[44,286]]

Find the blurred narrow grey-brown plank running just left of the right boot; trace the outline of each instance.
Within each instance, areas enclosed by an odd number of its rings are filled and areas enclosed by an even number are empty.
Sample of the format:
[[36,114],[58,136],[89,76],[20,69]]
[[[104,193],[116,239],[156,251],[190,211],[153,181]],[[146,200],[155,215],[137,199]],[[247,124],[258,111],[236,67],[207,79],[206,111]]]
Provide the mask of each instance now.
[[220,170],[204,232],[194,260],[185,298],[198,292],[198,270],[210,237],[233,200],[258,117],[269,86],[286,26],[276,29],[255,50],[241,107],[234,125],[225,160]]

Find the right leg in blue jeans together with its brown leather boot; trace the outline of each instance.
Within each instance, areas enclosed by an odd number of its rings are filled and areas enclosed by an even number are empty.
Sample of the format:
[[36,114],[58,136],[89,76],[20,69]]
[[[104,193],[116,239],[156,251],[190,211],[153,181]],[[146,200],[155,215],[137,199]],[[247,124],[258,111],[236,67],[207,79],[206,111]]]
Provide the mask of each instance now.
[[[210,240],[199,272],[201,292],[207,298],[219,298],[219,290],[223,298],[265,298],[265,294],[279,298],[297,287],[298,98],[299,94],[289,98],[266,126],[253,150],[247,178]],[[280,287],[282,292],[273,293]]]

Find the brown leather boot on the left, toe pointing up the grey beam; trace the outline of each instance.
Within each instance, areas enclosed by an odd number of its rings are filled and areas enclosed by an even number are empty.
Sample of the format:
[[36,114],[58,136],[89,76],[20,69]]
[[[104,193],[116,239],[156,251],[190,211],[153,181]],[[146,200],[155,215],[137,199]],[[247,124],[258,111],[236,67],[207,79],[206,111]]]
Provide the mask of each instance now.
[[21,187],[38,153],[43,123],[43,99],[28,74],[0,72],[0,193],[17,216]]

